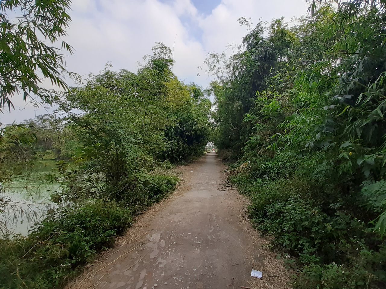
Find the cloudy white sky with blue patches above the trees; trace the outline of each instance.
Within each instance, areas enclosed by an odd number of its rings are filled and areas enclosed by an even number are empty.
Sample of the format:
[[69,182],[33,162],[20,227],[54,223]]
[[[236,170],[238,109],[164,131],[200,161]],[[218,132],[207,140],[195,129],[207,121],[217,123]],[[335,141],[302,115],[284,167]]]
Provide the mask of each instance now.
[[[115,71],[136,72],[137,61],[163,42],[173,50],[174,74],[205,88],[211,78],[198,67],[208,52],[241,43],[246,27],[237,22],[240,17],[254,24],[282,16],[290,22],[305,15],[307,6],[306,0],[73,0],[71,9],[63,39],[74,48],[66,56],[68,71],[86,79],[110,63]],[[54,109],[36,108],[21,96],[13,102],[15,110],[0,113],[0,123],[20,123]]]

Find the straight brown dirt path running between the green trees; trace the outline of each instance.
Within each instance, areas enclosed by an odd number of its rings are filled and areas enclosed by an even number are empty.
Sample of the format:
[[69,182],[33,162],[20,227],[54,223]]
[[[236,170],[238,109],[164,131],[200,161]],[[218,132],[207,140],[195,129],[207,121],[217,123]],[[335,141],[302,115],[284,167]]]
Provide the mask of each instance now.
[[[226,186],[209,153],[181,166],[183,183],[140,218],[70,288],[288,288],[281,263],[242,218],[245,199]],[[252,266],[262,279],[250,277]]]

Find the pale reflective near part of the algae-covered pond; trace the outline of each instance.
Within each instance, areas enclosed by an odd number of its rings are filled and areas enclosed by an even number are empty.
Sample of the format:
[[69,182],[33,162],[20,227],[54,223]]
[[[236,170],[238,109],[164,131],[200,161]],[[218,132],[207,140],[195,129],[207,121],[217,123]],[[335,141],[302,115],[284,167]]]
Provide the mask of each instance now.
[[[58,190],[59,184],[46,184],[40,181],[14,182],[0,192],[0,199],[7,201],[0,213],[0,229],[4,233],[28,235],[28,231],[58,207],[50,200],[52,192]],[[0,232],[1,233],[1,232]]]

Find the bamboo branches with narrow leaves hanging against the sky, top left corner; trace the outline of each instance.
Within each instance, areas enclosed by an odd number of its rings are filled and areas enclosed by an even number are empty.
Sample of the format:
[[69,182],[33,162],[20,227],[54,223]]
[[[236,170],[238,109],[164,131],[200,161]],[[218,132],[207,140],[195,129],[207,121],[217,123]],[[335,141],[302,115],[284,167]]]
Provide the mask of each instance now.
[[[14,108],[11,98],[20,93],[24,100],[33,93],[51,102],[54,94],[42,87],[42,79],[66,88],[63,74],[76,76],[66,70],[60,49],[46,44],[66,35],[70,4],[70,0],[0,1],[0,109]],[[61,48],[72,53],[64,41]]]

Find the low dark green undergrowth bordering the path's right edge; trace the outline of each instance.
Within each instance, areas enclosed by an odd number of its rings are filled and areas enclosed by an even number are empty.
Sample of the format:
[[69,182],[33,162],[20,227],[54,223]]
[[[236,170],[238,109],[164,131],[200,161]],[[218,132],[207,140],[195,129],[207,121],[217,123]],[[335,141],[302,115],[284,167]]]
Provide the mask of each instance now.
[[382,288],[386,284],[384,241],[352,215],[356,205],[348,210],[332,202],[334,192],[325,192],[327,199],[321,202],[326,187],[306,178],[271,180],[252,175],[242,172],[230,181],[249,196],[254,226],[273,236],[274,247],[297,258],[294,288]]

